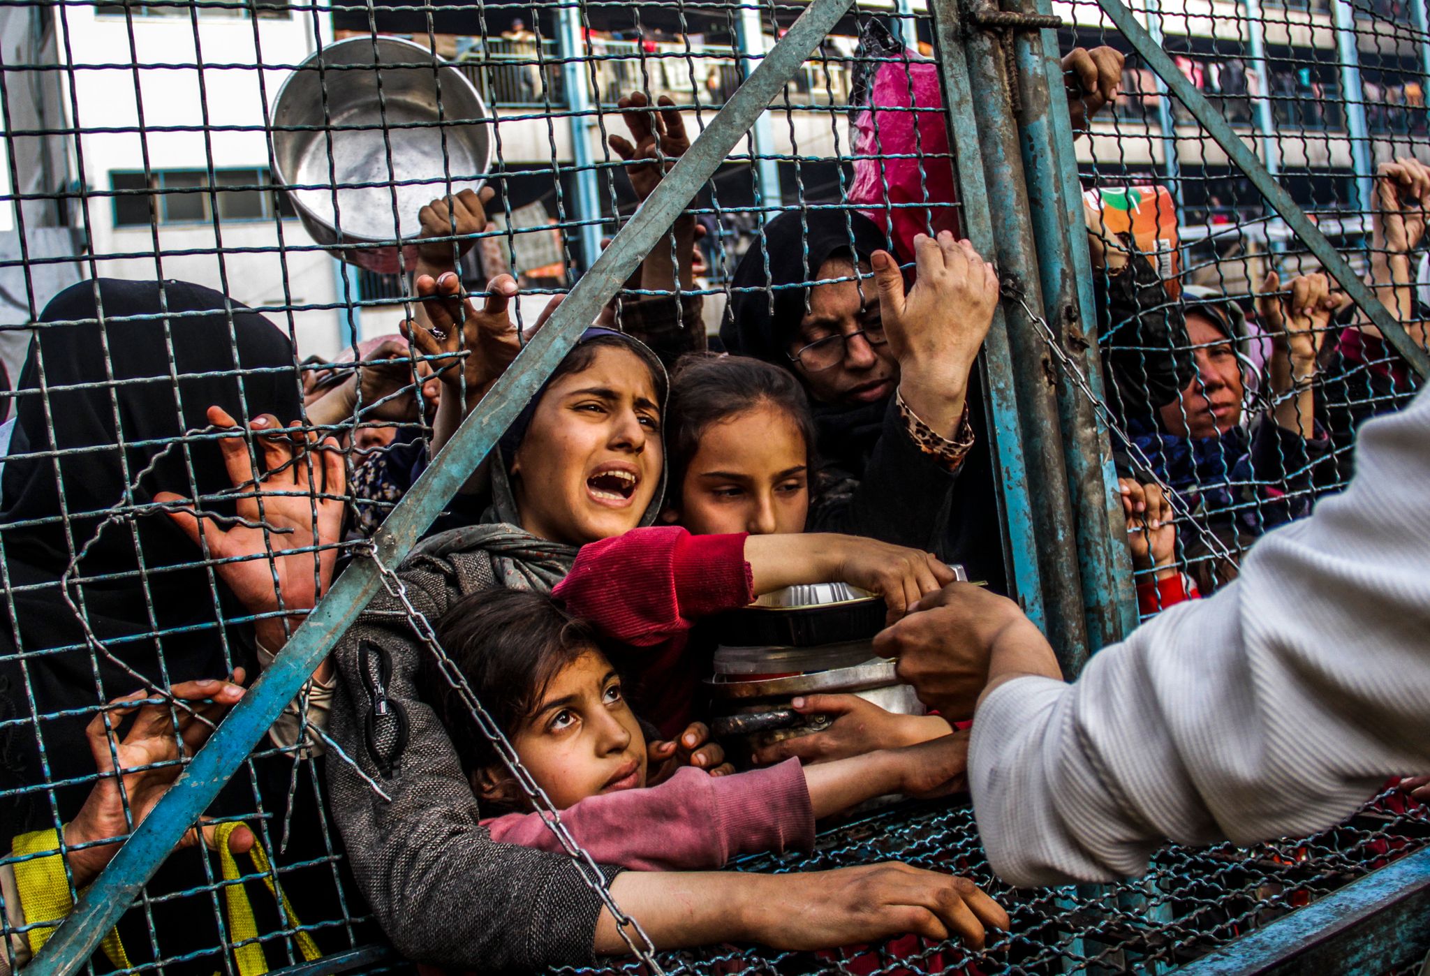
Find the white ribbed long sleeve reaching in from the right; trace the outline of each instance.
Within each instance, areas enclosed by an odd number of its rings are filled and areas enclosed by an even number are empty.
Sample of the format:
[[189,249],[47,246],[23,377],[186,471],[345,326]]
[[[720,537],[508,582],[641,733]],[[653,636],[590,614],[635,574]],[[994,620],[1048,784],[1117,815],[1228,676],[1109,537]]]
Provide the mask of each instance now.
[[970,783],[998,875],[1134,876],[1167,839],[1303,836],[1430,773],[1430,396],[1367,423],[1356,469],[1075,683],[987,697]]

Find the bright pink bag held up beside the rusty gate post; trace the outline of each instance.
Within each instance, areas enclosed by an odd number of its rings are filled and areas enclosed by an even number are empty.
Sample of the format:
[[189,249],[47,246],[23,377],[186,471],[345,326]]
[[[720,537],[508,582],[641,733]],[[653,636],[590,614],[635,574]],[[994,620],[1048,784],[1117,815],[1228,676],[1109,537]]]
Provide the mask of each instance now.
[[[874,73],[869,104],[854,121],[859,156],[907,154],[914,159],[859,159],[854,163],[849,201],[888,231],[901,262],[914,260],[914,234],[951,230],[961,236],[954,189],[954,160],[944,124],[938,66],[905,53]],[[885,111],[915,109],[915,111]],[[934,204],[901,207],[894,204]],[[944,204],[944,206],[938,206]]]

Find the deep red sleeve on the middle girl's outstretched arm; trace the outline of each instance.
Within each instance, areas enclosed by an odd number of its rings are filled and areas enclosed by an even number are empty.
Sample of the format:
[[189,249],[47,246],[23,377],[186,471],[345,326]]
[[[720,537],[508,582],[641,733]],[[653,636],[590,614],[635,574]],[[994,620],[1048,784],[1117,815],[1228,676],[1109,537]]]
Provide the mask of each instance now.
[[755,599],[742,533],[692,536],[678,526],[582,546],[552,596],[606,636],[642,647]]

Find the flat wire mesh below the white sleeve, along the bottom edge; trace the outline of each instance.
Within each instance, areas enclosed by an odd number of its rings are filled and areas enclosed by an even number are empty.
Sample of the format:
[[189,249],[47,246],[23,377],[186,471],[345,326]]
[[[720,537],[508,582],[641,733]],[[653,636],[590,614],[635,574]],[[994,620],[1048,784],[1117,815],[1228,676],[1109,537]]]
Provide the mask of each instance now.
[[[1011,889],[988,869],[972,810],[905,807],[829,830],[811,855],[749,859],[742,870],[821,870],[898,859],[967,875],[1008,909],[1012,927],[982,952],[915,936],[822,953],[719,946],[666,953],[692,973],[1161,973],[1261,929],[1423,847],[1426,810],[1393,793],[1344,826],[1257,847],[1168,846],[1141,879]],[[636,972],[636,966],[556,972]]]

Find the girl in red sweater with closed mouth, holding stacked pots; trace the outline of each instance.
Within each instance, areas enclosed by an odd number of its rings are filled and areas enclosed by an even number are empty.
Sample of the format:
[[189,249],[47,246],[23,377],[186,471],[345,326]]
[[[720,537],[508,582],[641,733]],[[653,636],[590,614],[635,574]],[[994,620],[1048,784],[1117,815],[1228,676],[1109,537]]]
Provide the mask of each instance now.
[[[552,590],[605,636],[651,649],[635,699],[641,714],[671,739],[652,747],[658,759],[689,752],[708,735],[694,722],[712,652],[709,642],[691,640],[699,619],[785,586],[838,580],[881,594],[892,620],[952,580],[928,553],[859,536],[804,533],[814,419],[786,370],[744,356],[684,359],[671,382],[665,432],[665,524],[583,546]],[[805,759],[854,756],[951,732],[937,716],[895,716],[852,694],[808,696],[795,707],[835,716],[827,732],[782,743]],[[772,752],[756,760],[794,755]],[[706,767],[718,759],[718,750],[692,756]]]

